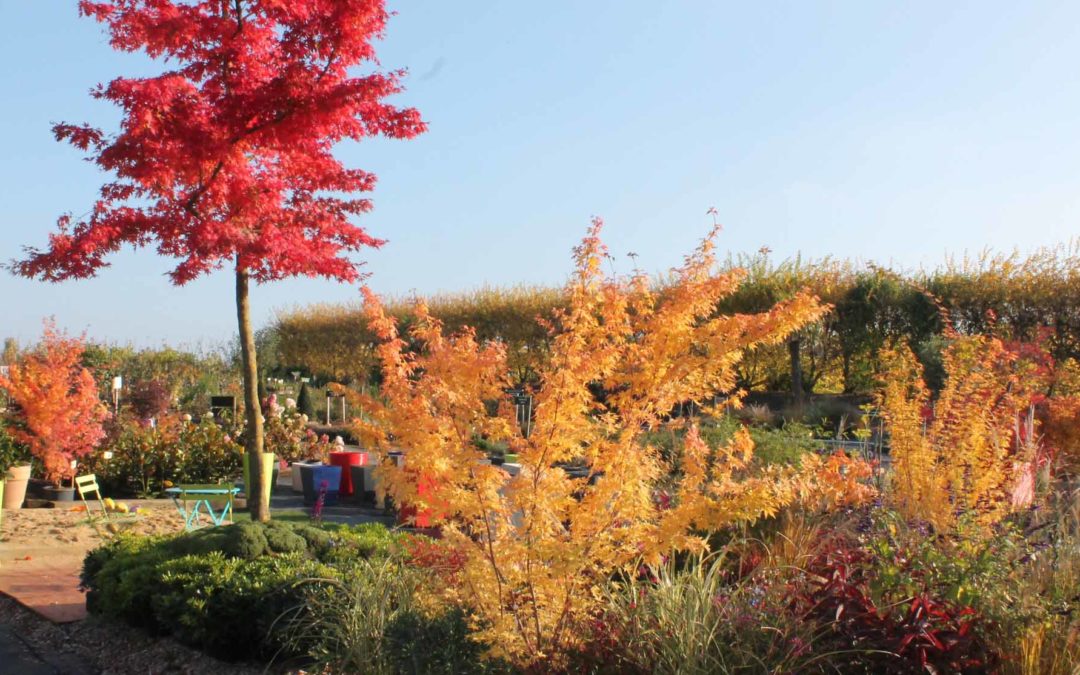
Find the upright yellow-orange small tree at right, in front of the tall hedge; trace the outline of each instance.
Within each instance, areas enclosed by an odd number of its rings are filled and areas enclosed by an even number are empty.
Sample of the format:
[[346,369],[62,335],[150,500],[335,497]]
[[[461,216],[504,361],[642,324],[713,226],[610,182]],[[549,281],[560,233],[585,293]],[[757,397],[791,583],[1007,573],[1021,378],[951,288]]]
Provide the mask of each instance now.
[[1049,383],[1049,355],[985,336],[951,334],[936,399],[905,346],[886,352],[878,405],[891,436],[891,498],[900,511],[948,530],[971,514],[1003,517],[1039,444],[1022,420]]

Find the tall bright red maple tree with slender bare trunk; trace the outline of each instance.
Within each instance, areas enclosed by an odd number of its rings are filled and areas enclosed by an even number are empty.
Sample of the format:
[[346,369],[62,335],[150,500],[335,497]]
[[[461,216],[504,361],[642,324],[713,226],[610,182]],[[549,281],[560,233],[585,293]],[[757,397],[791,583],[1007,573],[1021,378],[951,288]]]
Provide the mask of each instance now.
[[[82,0],[79,10],[107,25],[113,49],[171,69],[94,91],[122,109],[117,134],[54,127],[116,179],[85,218],[63,216],[48,248],[28,248],[14,269],[48,281],[92,276],[124,244],[178,259],[175,284],[231,267],[246,451],[259,486],[249,503],[267,519],[248,285],[300,274],[355,281],[348,254],[382,243],[351,221],[370,202],[349,195],[369,191],[375,176],[347,168],[332,149],[426,129],[415,109],[383,102],[403,76],[380,71],[375,56],[388,12],[382,0]],[[356,66],[367,71],[351,73]]]

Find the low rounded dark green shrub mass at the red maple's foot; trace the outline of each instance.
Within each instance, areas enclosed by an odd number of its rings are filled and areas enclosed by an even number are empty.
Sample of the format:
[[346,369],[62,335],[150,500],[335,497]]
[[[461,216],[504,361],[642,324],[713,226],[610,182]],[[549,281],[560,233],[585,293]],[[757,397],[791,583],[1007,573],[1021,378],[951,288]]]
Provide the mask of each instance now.
[[267,658],[284,646],[278,621],[302,602],[301,581],[346,579],[367,558],[388,559],[396,539],[379,525],[285,522],[121,535],[86,555],[82,585],[95,615],[221,659]]

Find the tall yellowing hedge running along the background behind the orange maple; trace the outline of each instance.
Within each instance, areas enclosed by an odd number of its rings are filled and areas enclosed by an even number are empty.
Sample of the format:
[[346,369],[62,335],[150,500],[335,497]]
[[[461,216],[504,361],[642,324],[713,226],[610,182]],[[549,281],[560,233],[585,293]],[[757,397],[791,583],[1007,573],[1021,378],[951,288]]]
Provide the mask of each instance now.
[[[746,354],[740,386],[752,390],[862,393],[874,387],[877,354],[890,341],[912,343],[934,377],[946,326],[961,334],[1035,339],[1045,333],[1057,360],[1080,357],[1080,242],[1029,255],[949,259],[936,269],[902,270],[851,261],[775,261],[767,253],[729,258],[741,268],[739,292],[720,313],[764,311],[809,287],[834,306],[821,322],[784,345]],[[657,281],[662,293],[664,280]],[[521,381],[544,357],[548,335],[538,318],[563,305],[562,291],[514,286],[427,299],[448,327],[471,325],[482,339],[502,339]],[[407,321],[411,300],[390,303]],[[282,361],[339,381],[363,380],[374,339],[356,306],[311,306],[283,312],[273,328]]]

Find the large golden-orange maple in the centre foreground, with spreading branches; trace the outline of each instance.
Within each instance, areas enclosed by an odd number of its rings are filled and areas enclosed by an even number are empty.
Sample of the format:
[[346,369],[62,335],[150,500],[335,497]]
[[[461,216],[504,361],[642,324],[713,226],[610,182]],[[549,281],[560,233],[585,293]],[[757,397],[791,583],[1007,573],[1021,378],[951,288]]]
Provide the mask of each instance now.
[[[599,229],[594,221],[575,249],[527,437],[503,393],[501,342],[481,342],[471,328],[444,334],[422,301],[402,335],[365,291],[368,325],[381,339],[382,399],[357,396],[368,415],[355,429],[368,444],[406,451],[403,470],[380,469],[390,495],[441,526],[462,562],[447,596],[495,653],[519,665],[557,665],[580,646],[602,584],[620,569],[703,550],[702,532],[800,498],[865,496],[861,467],[846,459],[752,470],[745,432],[713,450],[690,424],[678,467],[643,443],[648,430],[683,423],[669,415],[681,402],[710,409],[717,394],[737,400],[744,351],[783,340],[827,308],[798,293],[762,313],[717,315],[742,275],[714,272],[715,230],[656,292],[643,275],[604,274]],[[478,436],[509,444],[521,470],[485,463]],[[661,509],[654,487],[672,472],[676,489]]]

